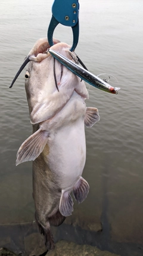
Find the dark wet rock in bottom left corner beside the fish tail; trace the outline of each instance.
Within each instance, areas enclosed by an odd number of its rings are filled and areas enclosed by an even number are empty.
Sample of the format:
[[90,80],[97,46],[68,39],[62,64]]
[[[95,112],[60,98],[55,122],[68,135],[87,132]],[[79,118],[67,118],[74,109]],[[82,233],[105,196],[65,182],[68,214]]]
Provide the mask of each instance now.
[[0,248],[8,248],[16,255],[39,256],[47,251],[36,222],[0,225]]

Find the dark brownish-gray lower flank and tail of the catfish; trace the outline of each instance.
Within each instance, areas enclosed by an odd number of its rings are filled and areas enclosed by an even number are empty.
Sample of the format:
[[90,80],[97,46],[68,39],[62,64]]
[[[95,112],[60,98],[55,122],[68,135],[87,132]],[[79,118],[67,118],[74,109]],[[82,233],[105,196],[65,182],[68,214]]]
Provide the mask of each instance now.
[[[35,129],[35,127],[33,128]],[[45,236],[45,245],[48,249],[54,249],[54,237],[50,225],[58,226],[66,219],[58,210],[61,188],[56,184],[57,177],[49,170],[44,161],[44,151],[33,161],[33,200],[35,201],[35,219],[39,231]]]

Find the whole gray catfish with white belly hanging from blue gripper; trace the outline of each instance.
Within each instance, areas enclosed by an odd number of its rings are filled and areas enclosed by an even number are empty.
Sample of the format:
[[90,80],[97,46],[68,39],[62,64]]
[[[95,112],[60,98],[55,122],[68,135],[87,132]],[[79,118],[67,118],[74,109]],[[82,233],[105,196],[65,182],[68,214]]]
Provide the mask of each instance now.
[[[67,44],[58,40],[54,43],[51,49],[71,61],[76,57]],[[92,127],[100,116],[98,109],[86,107],[85,83],[58,61],[55,62],[57,90],[53,57],[48,48],[47,39],[41,38],[28,55],[25,87],[33,134],[21,144],[16,165],[33,161],[35,218],[47,248],[54,249],[50,226],[62,224],[71,215],[71,192],[77,203],[82,203],[88,195],[88,182],[82,178],[86,160],[85,125]]]

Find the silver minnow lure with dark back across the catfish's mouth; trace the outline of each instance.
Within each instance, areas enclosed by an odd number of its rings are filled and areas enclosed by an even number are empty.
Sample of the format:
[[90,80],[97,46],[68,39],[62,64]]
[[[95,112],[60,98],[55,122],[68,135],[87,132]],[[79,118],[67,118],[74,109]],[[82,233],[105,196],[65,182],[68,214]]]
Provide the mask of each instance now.
[[89,83],[90,85],[94,86],[95,88],[98,88],[105,92],[110,92],[111,94],[117,94],[120,88],[113,87],[109,85],[108,83],[104,82],[99,77],[95,76],[88,70],[85,70],[85,68],[80,67],[76,63],[70,61],[60,53],[56,52],[55,50],[49,49],[49,53],[57,59],[61,64],[69,68],[70,71],[72,71],[76,76],[79,76],[81,79],[83,79],[85,82]]

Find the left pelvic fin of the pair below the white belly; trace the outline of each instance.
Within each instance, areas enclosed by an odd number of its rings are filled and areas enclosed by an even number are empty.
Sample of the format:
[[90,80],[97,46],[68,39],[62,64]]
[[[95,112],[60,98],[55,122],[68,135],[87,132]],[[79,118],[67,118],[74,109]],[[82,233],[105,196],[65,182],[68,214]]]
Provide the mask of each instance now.
[[62,190],[59,210],[61,215],[70,216],[73,212],[73,199],[69,191]]

